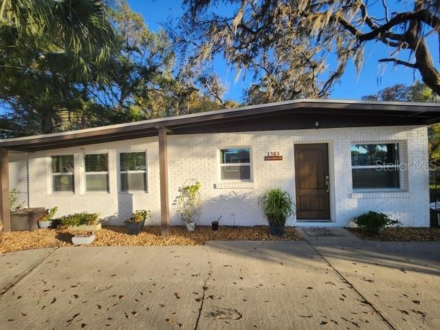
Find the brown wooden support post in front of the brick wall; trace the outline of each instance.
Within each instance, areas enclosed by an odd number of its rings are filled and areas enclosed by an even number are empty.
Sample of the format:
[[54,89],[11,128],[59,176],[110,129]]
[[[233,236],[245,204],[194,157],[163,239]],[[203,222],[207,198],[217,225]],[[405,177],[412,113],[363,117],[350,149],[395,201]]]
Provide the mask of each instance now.
[[166,127],[159,127],[159,177],[160,177],[160,218],[162,236],[170,234],[170,214],[168,210],[168,159],[166,151]]

